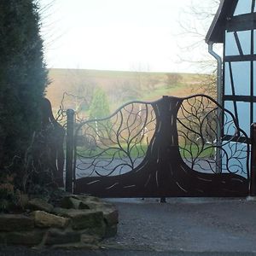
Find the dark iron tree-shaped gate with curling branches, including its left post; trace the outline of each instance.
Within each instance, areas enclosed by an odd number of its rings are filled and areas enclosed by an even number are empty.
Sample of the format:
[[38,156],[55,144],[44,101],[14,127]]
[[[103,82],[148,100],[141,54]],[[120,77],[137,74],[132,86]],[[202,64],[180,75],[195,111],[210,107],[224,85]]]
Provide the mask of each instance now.
[[249,139],[210,96],[129,102],[76,125],[67,117],[66,183],[76,194],[248,195]]

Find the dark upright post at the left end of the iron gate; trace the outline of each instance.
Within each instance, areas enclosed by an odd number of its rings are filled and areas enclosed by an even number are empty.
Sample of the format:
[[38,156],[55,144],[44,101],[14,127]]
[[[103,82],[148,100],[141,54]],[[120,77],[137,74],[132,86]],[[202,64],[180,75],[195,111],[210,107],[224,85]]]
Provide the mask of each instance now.
[[73,193],[73,125],[74,111],[67,109],[66,191]]

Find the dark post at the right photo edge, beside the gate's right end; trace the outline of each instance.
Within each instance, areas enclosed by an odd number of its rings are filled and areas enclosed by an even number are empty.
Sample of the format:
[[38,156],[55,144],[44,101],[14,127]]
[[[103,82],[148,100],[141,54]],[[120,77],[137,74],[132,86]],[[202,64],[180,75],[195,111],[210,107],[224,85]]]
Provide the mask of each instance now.
[[250,195],[256,195],[256,123],[251,125],[251,180]]

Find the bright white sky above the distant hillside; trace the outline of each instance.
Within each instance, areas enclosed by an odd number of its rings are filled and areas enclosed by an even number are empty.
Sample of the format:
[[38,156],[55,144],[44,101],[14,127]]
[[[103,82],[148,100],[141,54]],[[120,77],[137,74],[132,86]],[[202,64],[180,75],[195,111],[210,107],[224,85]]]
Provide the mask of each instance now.
[[[44,6],[52,0],[39,2]],[[202,4],[201,0],[194,2]],[[180,35],[179,21],[186,19],[184,9],[189,3],[190,0],[54,0],[43,15],[47,65],[200,72],[195,65],[180,61],[180,55],[184,55],[180,46],[195,40]],[[192,60],[202,54],[207,54],[206,44],[185,56]]]

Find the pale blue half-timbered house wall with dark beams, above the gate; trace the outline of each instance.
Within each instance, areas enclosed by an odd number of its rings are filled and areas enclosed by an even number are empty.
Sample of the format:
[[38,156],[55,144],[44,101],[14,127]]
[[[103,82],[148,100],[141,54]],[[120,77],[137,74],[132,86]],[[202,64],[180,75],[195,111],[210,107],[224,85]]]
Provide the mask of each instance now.
[[255,11],[255,0],[239,0],[234,15],[227,18],[224,37],[224,108],[235,114],[247,135],[256,122]]

